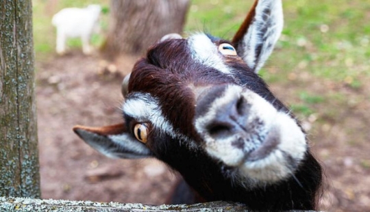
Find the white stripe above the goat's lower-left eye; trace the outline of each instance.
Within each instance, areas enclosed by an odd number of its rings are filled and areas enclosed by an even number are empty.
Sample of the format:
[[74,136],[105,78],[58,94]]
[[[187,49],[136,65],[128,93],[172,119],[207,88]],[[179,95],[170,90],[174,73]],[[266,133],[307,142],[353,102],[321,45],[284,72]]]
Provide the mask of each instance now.
[[173,128],[169,120],[164,117],[158,99],[151,96],[151,94],[140,92],[130,94],[123,105],[123,111],[137,122],[150,122],[154,129],[158,129],[172,138],[184,141],[186,146],[197,148],[193,140]]

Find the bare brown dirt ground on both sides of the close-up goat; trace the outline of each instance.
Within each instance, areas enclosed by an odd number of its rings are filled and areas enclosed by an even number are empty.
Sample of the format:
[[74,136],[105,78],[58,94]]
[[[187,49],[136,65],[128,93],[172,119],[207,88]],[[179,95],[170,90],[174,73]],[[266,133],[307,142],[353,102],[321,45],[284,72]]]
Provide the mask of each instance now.
[[[50,62],[36,63],[42,198],[164,203],[177,178],[166,165],[155,159],[109,159],[72,131],[75,124],[100,126],[121,121],[121,80],[134,61],[135,57],[122,57],[116,64],[117,72],[104,72],[101,67],[106,64],[97,55],[73,51],[55,56]],[[308,89],[325,92],[323,85],[306,83],[312,87]],[[271,88],[288,101],[289,89],[281,85]],[[327,176],[323,210],[370,211],[370,164],[363,164],[369,162],[369,109],[369,103],[362,103],[356,110],[343,111],[343,122],[334,120],[310,135],[310,140],[317,140],[312,144],[313,150]],[[354,144],[353,148],[341,147],[349,139],[344,130],[348,126],[363,132],[359,139],[366,142]]]

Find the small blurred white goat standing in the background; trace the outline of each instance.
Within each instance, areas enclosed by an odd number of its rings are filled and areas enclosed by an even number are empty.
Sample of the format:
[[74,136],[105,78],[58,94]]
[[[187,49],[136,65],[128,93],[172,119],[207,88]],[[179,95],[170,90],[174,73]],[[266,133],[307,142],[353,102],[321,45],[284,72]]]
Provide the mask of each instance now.
[[81,38],[82,51],[88,55],[92,52],[90,37],[98,28],[101,12],[100,5],[88,5],[86,8],[64,8],[53,16],[52,24],[56,27],[56,52],[66,52],[67,38]]

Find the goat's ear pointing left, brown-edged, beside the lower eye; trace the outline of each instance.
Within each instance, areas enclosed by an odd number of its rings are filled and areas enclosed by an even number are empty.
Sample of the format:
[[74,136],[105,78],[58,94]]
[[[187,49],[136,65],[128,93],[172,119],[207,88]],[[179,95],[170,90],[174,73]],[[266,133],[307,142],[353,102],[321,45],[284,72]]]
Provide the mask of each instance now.
[[73,131],[88,145],[108,157],[126,159],[151,157],[149,148],[132,137],[127,132],[125,124],[108,127],[75,126]]

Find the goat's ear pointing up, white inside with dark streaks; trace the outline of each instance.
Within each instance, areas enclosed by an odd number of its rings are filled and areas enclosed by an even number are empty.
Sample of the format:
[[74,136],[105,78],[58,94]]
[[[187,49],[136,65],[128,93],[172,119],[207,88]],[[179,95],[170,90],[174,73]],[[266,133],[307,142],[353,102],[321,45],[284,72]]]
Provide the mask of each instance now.
[[284,25],[281,0],[256,0],[232,42],[249,68],[258,72]]

